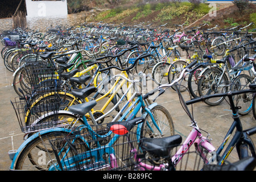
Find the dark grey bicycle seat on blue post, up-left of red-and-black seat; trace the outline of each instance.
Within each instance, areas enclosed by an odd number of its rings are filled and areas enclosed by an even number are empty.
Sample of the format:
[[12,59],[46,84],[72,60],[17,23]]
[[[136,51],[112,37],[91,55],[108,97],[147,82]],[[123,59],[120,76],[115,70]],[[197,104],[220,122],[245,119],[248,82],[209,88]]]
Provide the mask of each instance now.
[[96,101],[89,101],[82,104],[69,106],[68,110],[74,114],[85,115],[91,109],[93,109],[93,107],[96,106],[96,104],[97,104]]

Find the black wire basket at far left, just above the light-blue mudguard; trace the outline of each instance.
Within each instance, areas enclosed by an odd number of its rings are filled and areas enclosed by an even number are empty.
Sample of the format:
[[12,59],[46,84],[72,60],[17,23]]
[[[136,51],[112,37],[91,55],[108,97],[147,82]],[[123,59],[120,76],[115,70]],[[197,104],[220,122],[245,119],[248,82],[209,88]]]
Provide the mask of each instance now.
[[[23,133],[35,133],[55,127],[67,127],[70,123],[60,120],[57,113],[64,106],[57,94],[36,100],[34,102],[26,98],[16,97],[11,101],[14,107],[20,129]],[[51,117],[47,116],[51,114]],[[46,118],[42,120],[42,118]]]

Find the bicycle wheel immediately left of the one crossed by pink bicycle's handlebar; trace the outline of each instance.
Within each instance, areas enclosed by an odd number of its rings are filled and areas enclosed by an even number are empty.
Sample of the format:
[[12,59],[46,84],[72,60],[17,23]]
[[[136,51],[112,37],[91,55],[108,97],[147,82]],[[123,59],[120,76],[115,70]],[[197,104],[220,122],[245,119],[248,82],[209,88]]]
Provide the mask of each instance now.
[[152,78],[156,84],[168,84],[168,68],[170,63],[163,61],[155,65],[152,71]]

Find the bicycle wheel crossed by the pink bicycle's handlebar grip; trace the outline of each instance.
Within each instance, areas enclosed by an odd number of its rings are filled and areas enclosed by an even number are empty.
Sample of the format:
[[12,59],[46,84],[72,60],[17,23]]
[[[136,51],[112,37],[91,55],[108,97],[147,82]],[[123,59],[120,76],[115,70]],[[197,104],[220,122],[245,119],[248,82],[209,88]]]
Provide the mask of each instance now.
[[[171,83],[174,81],[176,78],[179,78],[180,73],[183,71],[183,69],[186,67],[187,62],[186,61],[175,61],[170,65],[168,68],[168,82]],[[187,73],[184,73],[187,74]],[[188,87],[188,74],[183,78],[183,81],[181,81],[181,85],[179,86],[180,92],[184,92],[187,90]],[[172,89],[175,89],[174,86],[172,86]]]

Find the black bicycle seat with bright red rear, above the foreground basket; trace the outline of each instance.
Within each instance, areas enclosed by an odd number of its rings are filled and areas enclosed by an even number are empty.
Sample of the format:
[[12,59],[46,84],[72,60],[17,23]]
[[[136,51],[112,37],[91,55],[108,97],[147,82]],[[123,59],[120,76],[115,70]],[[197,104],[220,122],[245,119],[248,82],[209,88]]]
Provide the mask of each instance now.
[[135,125],[144,122],[144,118],[137,117],[129,121],[115,121],[107,124],[107,127],[118,135],[127,134]]

